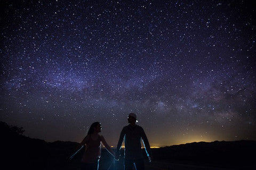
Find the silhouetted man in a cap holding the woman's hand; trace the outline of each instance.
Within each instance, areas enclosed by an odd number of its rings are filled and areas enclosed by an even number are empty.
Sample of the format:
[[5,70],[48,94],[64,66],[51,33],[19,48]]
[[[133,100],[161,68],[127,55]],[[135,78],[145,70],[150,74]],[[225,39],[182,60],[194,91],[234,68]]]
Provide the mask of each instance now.
[[124,170],[131,170],[133,164],[136,166],[137,170],[144,170],[141,139],[143,140],[149,162],[151,162],[152,157],[147,136],[141,126],[135,124],[135,122],[138,122],[135,113],[130,113],[127,120],[130,124],[124,126],[120,134],[116,147],[116,159],[119,159],[119,150],[121,149],[124,139]]

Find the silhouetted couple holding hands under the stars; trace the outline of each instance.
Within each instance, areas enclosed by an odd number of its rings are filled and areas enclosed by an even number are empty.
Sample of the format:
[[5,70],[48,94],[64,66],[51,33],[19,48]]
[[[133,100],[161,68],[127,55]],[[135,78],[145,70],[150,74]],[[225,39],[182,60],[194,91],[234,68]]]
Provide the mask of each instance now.
[[[129,125],[124,126],[121,131],[116,152],[114,152],[106,142],[105,138],[100,135],[101,132],[101,124],[100,122],[94,122],[86,135],[86,137],[81,142],[81,150],[85,147],[85,151],[83,153],[83,157],[81,160],[81,169],[82,170],[98,170],[99,168],[99,160],[101,155],[101,147],[102,144],[105,148],[110,152],[110,154],[115,158],[115,160],[119,160],[120,157],[120,149],[124,140],[124,170],[131,170],[133,165],[137,170],[144,170],[144,160],[141,149],[141,139],[143,140],[143,144],[145,146],[145,150],[151,162],[152,154],[150,150],[150,145],[147,139],[147,136],[143,130],[143,128],[136,124],[137,115],[135,113],[130,113],[127,117]],[[79,151],[78,150],[78,151]],[[77,151],[77,152],[78,152]],[[72,159],[77,152],[70,157]]]

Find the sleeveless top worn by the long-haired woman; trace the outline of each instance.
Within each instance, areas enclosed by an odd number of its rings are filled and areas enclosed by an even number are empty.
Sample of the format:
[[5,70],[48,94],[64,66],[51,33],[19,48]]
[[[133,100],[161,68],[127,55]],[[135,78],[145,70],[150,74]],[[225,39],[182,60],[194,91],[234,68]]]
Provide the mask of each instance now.
[[85,142],[86,149],[82,157],[82,162],[95,163],[95,161],[100,159],[100,154],[101,154],[100,142],[101,142],[100,135],[96,140],[93,140],[91,138],[91,135],[89,136],[89,140]]

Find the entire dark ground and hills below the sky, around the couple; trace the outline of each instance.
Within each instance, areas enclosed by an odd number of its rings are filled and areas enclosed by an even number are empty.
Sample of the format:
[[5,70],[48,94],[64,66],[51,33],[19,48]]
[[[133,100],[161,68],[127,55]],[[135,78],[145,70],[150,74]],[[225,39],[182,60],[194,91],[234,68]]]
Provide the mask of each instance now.
[[[22,135],[23,130],[1,122],[1,160],[6,169],[79,169],[82,152],[68,160],[76,142],[45,142]],[[194,142],[152,149],[154,161],[146,169],[256,169],[256,141]],[[123,155],[123,150],[121,152]],[[2,168],[1,168],[2,169]],[[123,169],[123,159],[116,162],[102,149],[99,169]]]

